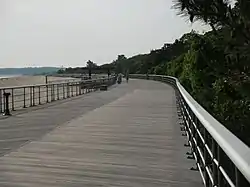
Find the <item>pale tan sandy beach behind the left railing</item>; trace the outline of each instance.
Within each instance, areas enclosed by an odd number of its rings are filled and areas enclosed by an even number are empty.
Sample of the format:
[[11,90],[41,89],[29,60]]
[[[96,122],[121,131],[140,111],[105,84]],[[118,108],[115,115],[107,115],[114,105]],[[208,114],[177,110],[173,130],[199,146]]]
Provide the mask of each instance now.
[[[76,80],[70,77],[48,77],[48,83],[63,83],[69,80]],[[15,88],[15,89],[3,89],[6,87],[14,86],[26,86],[26,85],[39,85],[45,84],[45,76],[20,76],[20,77],[9,77],[0,79],[0,111],[3,112],[5,108],[5,101],[3,98],[3,92],[11,93],[9,99],[9,107],[11,110],[17,110],[23,107],[37,105],[39,103],[51,102],[52,100],[59,100],[67,95],[67,91],[70,94],[76,94],[76,87],[66,85],[55,85],[52,90],[52,86],[35,86],[34,88]],[[2,88],[2,89],[1,89]],[[25,93],[25,94],[24,94]],[[52,96],[54,95],[54,96]],[[39,99],[40,98],[40,99]]]

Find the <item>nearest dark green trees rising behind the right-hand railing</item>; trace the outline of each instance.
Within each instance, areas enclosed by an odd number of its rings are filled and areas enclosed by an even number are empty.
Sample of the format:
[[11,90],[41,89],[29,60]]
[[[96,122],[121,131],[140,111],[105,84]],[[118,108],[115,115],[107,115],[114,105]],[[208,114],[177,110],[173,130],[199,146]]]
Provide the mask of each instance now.
[[169,63],[167,72],[182,84],[212,115],[250,145],[250,7],[238,0],[231,8],[225,0],[177,0],[175,8],[191,21],[213,28],[190,39],[182,68]]

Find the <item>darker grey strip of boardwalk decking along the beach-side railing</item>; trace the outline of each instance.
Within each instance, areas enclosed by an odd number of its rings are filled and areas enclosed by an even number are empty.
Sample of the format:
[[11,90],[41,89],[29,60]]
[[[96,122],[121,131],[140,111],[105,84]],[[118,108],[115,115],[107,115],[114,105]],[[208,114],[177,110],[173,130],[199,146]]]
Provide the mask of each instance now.
[[10,118],[0,117],[0,156],[29,141],[41,138],[58,125],[110,103],[134,89],[133,86],[114,88],[115,86],[111,87],[107,92],[89,93],[39,107],[27,108],[14,113]]

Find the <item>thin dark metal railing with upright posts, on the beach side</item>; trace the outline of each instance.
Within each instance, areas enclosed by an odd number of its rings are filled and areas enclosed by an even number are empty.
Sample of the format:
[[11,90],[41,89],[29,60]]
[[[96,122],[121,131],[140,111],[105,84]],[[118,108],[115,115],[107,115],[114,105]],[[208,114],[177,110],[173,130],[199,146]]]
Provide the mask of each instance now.
[[[33,107],[82,95],[99,89],[102,85],[110,86],[115,83],[115,77],[91,80],[72,80],[49,84],[24,85],[15,87],[0,87],[0,113],[6,109],[15,111],[21,108]],[[8,105],[4,93],[10,93]]]

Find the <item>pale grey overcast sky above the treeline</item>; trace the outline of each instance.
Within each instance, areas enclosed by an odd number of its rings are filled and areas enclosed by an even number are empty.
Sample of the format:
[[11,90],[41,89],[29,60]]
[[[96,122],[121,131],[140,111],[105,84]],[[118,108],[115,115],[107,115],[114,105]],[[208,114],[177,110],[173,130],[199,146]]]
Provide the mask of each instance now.
[[0,67],[103,64],[204,30],[171,6],[172,0],[0,0]]

